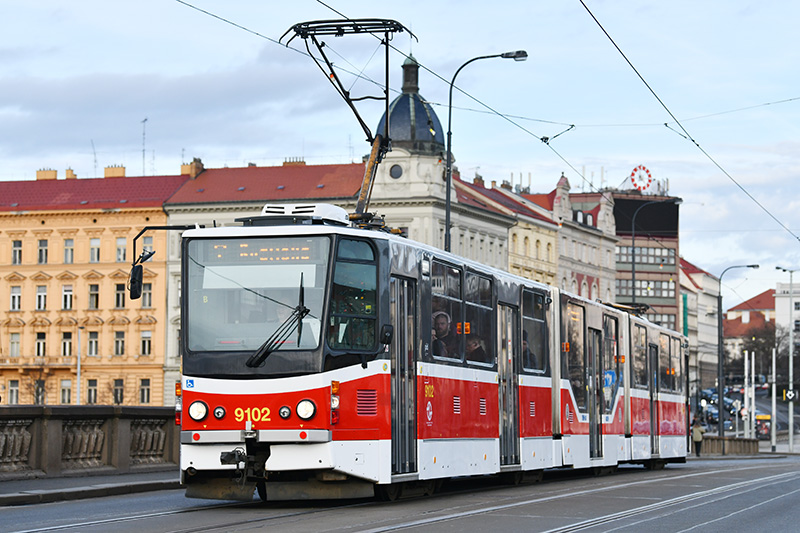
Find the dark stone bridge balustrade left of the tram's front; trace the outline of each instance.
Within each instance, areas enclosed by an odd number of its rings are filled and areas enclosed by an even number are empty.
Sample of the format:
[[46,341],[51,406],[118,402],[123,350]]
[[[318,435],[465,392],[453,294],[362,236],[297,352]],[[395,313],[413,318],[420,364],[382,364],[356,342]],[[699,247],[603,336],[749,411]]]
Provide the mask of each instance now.
[[0,479],[176,469],[171,407],[0,407]]

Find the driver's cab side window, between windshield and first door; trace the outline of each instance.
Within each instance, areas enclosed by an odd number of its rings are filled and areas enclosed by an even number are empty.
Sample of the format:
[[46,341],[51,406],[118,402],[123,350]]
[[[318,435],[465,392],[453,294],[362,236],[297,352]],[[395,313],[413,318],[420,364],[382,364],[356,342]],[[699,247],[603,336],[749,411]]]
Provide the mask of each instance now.
[[[369,253],[364,246],[369,248]],[[328,327],[328,345],[333,349],[369,350],[375,346],[377,267],[374,257],[372,248],[364,241],[343,239],[339,243]]]

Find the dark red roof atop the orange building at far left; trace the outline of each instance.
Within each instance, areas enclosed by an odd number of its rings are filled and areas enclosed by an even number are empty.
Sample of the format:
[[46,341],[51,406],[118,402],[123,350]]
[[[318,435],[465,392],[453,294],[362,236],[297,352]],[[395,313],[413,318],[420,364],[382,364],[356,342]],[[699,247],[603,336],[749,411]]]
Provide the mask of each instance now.
[[161,206],[188,176],[0,182],[0,212]]

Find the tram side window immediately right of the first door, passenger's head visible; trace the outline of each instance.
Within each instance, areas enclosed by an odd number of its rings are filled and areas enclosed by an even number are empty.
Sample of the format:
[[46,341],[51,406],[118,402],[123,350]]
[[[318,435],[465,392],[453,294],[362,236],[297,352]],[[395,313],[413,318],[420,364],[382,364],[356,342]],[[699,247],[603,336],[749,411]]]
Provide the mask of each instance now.
[[435,358],[462,360],[464,324],[461,305],[461,269],[431,264],[431,345]]

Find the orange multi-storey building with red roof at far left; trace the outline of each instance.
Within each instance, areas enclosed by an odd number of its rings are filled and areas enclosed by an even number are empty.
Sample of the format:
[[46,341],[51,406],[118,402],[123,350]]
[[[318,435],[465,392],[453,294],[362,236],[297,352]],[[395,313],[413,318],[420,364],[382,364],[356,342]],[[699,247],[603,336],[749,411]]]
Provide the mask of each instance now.
[[[124,167],[105,176],[42,170],[0,182],[3,404],[163,402],[166,258],[146,263],[132,302],[131,244],[166,223],[162,204],[188,176],[131,178]],[[166,237],[140,242],[163,249]]]

